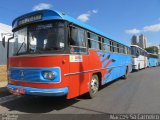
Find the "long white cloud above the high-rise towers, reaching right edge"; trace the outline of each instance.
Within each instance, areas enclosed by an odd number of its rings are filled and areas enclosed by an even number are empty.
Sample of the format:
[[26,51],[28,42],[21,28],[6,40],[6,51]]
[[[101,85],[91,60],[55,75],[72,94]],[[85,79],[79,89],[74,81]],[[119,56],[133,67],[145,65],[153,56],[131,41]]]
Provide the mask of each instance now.
[[126,30],[127,34],[138,34],[142,32],[160,32],[160,23],[144,26],[142,29],[134,28],[134,29]]

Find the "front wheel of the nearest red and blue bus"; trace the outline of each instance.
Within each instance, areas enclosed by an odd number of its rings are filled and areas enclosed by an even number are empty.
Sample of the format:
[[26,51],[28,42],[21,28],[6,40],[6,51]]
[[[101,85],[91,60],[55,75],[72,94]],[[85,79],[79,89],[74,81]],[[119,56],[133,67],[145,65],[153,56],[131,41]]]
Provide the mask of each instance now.
[[99,78],[97,75],[93,75],[89,83],[89,92],[86,94],[87,98],[93,98],[99,90]]

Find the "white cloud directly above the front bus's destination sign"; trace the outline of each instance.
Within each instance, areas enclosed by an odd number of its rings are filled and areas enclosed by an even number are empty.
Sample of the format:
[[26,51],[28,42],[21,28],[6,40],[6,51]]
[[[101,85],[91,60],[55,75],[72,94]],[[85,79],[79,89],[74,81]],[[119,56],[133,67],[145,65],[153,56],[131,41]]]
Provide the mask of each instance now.
[[38,5],[35,5],[32,10],[36,11],[36,10],[43,10],[43,9],[50,9],[50,8],[52,8],[51,4],[39,3]]

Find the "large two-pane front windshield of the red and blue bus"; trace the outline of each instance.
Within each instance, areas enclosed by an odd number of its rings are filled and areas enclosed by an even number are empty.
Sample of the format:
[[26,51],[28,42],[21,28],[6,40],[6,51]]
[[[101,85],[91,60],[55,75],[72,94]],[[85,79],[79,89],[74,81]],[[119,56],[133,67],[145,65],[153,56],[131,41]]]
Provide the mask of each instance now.
[[16,31],[14,53],[52,53],[65,47],[65,24],[61,21],[31,25]]

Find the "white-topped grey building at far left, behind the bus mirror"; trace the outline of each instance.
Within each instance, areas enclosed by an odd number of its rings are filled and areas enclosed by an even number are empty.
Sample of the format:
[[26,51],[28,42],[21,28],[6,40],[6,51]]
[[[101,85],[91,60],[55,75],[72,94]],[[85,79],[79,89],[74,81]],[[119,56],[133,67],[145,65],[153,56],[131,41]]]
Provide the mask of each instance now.
[[[2,45],[2,38],[4,34],[12,34],[12,27],[9,25],[0,23],[0,65],[6,64],[7,62],[7,47],[4,48]],[[6,44],[9,37],[11,36],[5,35]],[[10,43],[10,55],[11,54],[13,54],[13,40]]]

